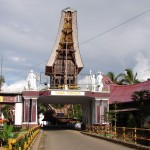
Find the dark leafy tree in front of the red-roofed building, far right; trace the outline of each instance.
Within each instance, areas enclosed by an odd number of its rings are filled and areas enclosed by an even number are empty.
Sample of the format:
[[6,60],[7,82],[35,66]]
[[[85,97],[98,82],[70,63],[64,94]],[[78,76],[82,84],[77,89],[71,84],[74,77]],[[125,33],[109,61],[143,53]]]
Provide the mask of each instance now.
[[150,91],[142,90],[136,91],[132,94],[131,99],[135,103],[135,106],[139,109],[139,116],[141,127],[144,126],[144,118],[147,114],[147,109],[145,109],[148,104],[150,104]]

